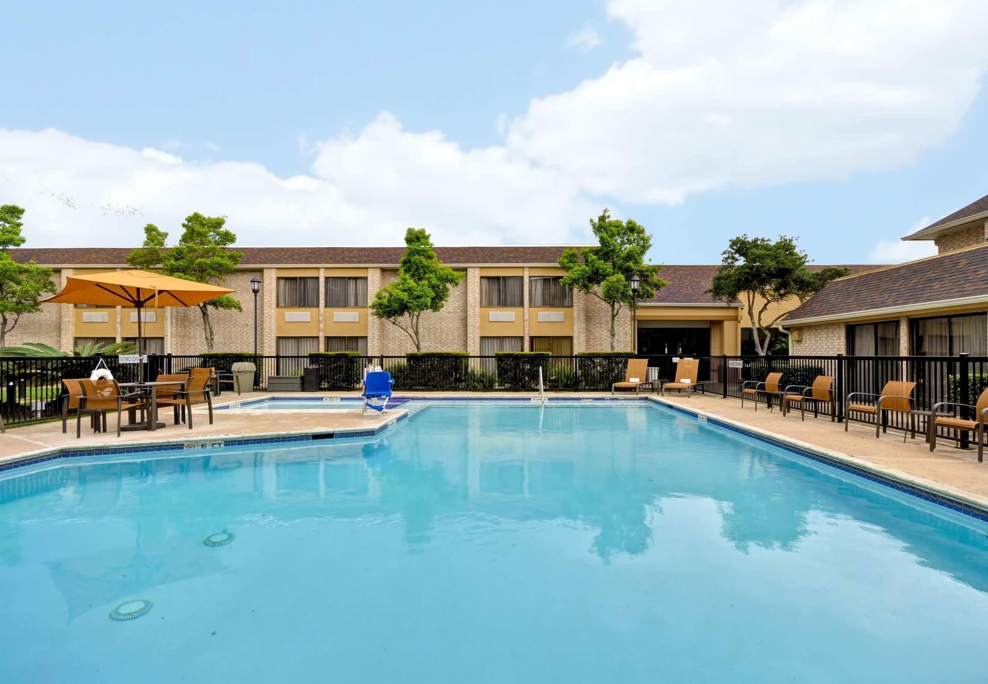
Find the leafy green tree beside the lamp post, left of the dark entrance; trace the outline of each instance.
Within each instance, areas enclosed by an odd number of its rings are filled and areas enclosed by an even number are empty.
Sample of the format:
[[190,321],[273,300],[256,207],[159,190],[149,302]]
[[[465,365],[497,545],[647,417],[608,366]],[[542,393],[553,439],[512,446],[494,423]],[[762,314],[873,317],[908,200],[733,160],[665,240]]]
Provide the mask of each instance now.
[[611,308],[611,350],[615,350],[615,322],[625,306],[630,309],[631,276],[639,279],[637,301],[651,299],[669,283],[659,277],[662,266],[645,264],[645,254],[652,248],[652,236],[644,226],[628,219],[611,217],[607,209],[590,227],[599,246],[582,250],[565,250],[559,266],[565,271],[562,282],[585,294],[592,294]]

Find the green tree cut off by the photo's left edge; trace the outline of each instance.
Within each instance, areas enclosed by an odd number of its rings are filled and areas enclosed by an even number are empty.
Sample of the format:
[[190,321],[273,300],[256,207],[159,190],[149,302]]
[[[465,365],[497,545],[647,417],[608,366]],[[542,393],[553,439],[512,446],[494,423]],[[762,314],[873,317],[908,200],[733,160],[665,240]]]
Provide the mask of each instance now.
[[21,316],[41,311],[41,295],[55,291],[50,268],[34,261],[18,264],[8,253],[25,243],[23,216],[19,206],[0,206],[0,347],[7,345],[7,334],[17,328]]

